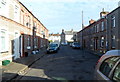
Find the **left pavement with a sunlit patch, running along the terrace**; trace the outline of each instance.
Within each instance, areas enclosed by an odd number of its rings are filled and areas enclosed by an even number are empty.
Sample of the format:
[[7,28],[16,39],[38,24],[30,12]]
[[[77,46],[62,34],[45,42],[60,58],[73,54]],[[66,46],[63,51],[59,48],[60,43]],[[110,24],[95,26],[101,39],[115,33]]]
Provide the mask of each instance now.
[[37,54],[31,54],[28,57],[19,58],[7,66],[2,66],[2,82],[10,81],[18,75],[23,74],[33,63],[45,55],[45,50]]

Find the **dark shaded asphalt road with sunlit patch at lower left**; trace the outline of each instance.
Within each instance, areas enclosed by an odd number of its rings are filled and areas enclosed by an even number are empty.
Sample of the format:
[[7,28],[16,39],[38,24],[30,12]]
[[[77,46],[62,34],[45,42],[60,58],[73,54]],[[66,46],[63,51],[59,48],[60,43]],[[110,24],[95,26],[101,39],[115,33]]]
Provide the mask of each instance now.
[[34,63],[21,80],[93,80],[98,56],[69,46],[58,53],[46,54]]

